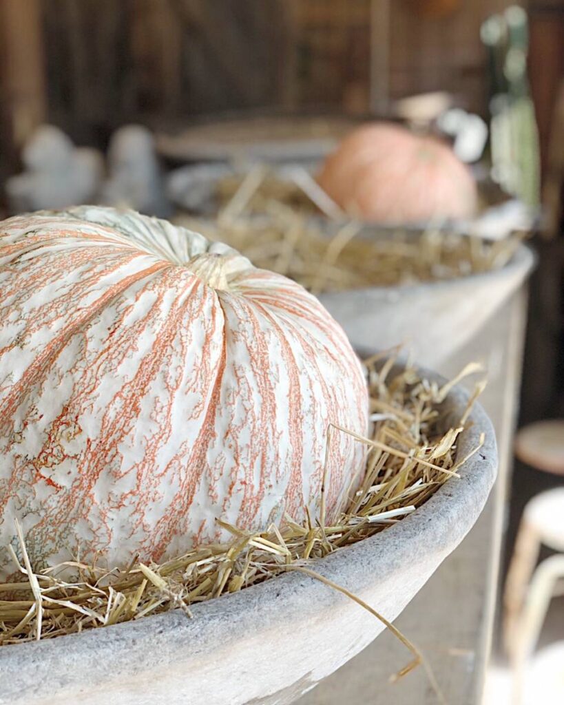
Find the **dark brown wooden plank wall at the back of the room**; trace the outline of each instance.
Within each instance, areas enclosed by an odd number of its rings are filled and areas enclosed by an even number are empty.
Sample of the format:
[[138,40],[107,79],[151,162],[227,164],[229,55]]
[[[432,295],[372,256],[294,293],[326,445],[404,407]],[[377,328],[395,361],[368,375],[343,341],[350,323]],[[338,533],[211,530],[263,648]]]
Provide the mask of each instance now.
[[163,128],[228,110],[363,113],[375,95],[381,111],[427,90],[462,94],[484,111],[479,26],[510,0],[6,4],[39,4],[49,120],[104,146],[128,121]]

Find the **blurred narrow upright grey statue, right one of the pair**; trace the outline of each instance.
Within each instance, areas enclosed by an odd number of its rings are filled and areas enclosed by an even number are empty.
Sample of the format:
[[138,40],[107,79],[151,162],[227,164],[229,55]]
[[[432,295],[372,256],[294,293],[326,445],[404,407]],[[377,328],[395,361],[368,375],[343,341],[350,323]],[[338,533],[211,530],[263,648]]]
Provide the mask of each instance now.
[[108,149],[109,178],[102,188],[104,205],[133,208],[166,217],[170,206],[150,130],[125,125],[111,136]]

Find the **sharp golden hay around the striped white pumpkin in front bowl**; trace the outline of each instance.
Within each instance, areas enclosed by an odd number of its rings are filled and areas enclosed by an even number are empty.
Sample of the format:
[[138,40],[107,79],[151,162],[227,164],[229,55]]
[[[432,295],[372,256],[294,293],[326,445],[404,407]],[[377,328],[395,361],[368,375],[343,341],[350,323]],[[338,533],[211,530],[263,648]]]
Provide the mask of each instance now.
[[[457,424],[445,431],[441,402],[451,384],[439,388],[420,379],[409,364],[392,374],[394,362],[394,356],[385,362],[381,356],[365,362],[372,431],[369,438],[355,438],[367,448],[366,472],[360,489],[348,497],[330,525],[326,525],[321,490],[316,517],[308,513],[302,523],[286,517],[283,526],[271,525],[262,532],[220,522],[233,537],[231,541],[197,546],[160,565],[133,560],[124,570],[109,570],[101,560],[92,565],[76,560],[42,572],[33,572],[18,526],[19,556],[11,553],[22,578],[0,584],[0,644],[51,639],[172,608],[181,608],[190,616],[195,603],[237,592],[288,570],[301,570],[327,582],[312,570],[317,560],[401,521],[444,482],[458,477],[457,470],[466,460],[458,458],[456,441],[480,386]],[[457,381],[476,371],[475,365],[467,366]],[[331,427],[327,445],[330,434],[347,432]],[[75,576],[63,580],[61,575],[68,575],[69,570]],[[405,637],[399,638],[419,663],[419,651]]]

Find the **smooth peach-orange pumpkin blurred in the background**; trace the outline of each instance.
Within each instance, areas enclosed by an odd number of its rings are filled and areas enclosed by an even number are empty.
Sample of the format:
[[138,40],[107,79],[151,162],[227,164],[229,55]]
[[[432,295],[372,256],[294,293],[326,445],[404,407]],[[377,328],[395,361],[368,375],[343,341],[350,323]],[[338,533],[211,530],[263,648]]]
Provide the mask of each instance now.
[[343,210],[373,222],[464,219],[477,208],[474,177],[448,145],[388,123],[345,137],[317,181]]

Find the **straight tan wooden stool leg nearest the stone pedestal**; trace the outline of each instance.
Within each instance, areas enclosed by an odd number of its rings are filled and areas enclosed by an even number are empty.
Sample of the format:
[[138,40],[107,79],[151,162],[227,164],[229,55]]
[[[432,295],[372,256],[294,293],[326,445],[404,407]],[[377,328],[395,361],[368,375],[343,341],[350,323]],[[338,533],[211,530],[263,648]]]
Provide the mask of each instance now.
[[522,519],[515,549],[509,565],[503,595],[503,641],[511,655],[515,644],[515,629],[525,602],[527,587],[539,558],[541,542],[537,531]]

